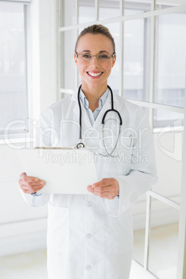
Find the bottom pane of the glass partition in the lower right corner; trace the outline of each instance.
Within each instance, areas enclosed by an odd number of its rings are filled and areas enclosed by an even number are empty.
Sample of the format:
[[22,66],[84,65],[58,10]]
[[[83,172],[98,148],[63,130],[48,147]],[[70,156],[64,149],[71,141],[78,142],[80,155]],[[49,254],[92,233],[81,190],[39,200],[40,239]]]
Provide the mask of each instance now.
[[152,199],[149,271],[160,279],[176,278],[178,221],[178,210]]

